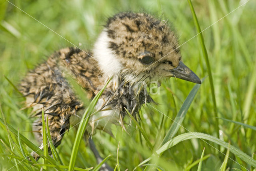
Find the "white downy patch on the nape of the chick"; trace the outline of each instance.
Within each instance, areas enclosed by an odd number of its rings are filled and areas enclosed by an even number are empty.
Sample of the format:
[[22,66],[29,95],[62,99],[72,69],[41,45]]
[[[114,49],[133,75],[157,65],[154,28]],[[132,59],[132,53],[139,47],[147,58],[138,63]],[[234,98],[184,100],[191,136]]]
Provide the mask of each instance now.
[[110,41],[106,29],[104,29],[93,49],[94,58],[98,60],[99,67],[107,78],[117,76],[122,70],[122,64],[108,48]]

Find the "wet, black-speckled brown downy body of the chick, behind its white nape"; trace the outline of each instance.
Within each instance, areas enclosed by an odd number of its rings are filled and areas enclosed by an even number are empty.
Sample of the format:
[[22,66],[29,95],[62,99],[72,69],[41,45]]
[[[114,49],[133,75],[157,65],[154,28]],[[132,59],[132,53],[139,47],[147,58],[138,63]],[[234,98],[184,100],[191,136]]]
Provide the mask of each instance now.
[[[78,48],[64,48],[52,54],[46,62],[30,71],[20,83],[26,97],[26,107],[33,107],[34,133],[42,143],[42,109],[48,115],[49,129],[54,146],[58,146],[70,126],[70,116],[82,109],[72,86],[65,78],[71,74],[84,88],[89,98],[94,97],[101,85],[97,62],[89,53]],[[40,146],[42,147],[42,145]],[[33,157],[39,159],[34,153]]]

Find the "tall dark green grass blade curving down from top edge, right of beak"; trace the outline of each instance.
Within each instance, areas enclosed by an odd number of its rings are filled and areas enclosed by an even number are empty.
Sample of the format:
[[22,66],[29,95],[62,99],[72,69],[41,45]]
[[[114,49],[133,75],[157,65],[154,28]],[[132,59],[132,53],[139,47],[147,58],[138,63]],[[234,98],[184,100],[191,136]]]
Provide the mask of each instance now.
[[[196,30],[198,32],[201,49],[202,49],[204,60],[206,62],[206,66],[207,66],[207,72],[208,72],[208,75],[209,75],[210,87],[211,87],[211,92],[212,92],[214,116],[216,118],[216,117],[218,117],[218,111],[217,111],[215,91],[214,91],[214,85],[213,85],[212,70],[211,70],[211,66],[210,66],[207,50],[206,50],[206,47],[204,45],[204,38],[203,38],[203,35],[201,33],[202,31],[201,31],[200,25],[198,23],[198,20],[197,20],[197,17],[196,17],[196,13],[195,13],[195,10],[194,10],[194,7],[192,5],[191,0],[188,0],[188,4],[190,6],[190,10],[192,12],[193,20],[194,20],[194,23],[196,25]],[[219,121],[218,121],[218,119],[215,119],[215,129],[216,129],[215,130],[216,134],[219,136]]]

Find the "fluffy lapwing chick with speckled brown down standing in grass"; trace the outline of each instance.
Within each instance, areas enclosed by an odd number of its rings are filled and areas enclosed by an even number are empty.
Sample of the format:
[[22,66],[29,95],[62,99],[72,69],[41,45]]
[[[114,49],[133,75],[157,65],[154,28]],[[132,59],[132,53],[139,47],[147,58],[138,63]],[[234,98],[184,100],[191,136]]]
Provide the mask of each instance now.
[[[89,134],[94,129],[110,132],[112,123],[122,125],[126,109],[136,117],[141,105],[153,101],[144,88],[152,81],[176,77],[201,84],[181,61],[178,47],[166,22],[145,13],[123,12],[108,19],[91,52],[76,47],[56,51],[20,83],[26,107],[32,107],[37,117],[33,130],[38,141],[42,143],[42,109],[48,115],[52,143],[57,147],[70,127],[70,117],[77,117],[86,108],[68,75],[90,99],[112,78],[96,105],[98,113],[90,117]],[[40,157],[36,153],[32,156]]]

